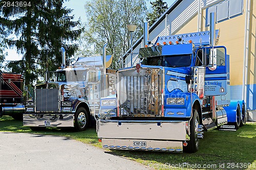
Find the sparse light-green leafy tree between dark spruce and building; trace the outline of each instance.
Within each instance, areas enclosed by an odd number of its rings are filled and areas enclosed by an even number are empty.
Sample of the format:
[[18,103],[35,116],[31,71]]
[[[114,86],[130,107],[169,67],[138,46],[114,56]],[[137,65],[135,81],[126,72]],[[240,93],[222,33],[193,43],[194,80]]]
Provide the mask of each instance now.
[[85,5],[88,22],[84,41],[94,45],[95,53],[102,54],[102,46],[108,43],[107,54],[113,55],[111,67],[117,68],[117,60],[130,48],[130,34],[127,25],[135,24],[133,40],[142,35],[146,16],[145,0],[95,0]]

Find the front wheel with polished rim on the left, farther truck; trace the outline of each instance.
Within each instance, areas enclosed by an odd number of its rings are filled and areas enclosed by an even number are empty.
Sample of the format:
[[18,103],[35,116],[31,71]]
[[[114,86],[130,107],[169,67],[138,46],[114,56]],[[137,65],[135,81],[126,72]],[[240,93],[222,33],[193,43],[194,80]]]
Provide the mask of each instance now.
[[89,116],[87,110],[83,107],[77,109],[75,114],[75,130],[80,132],[86,130],[89,125]]

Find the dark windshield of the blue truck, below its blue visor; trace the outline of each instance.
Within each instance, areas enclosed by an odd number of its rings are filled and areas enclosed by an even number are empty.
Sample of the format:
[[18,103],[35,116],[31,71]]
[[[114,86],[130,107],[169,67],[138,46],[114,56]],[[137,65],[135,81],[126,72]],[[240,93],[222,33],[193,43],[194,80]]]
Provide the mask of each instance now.
[[191,63],[191,55],[173,55],[173,56],[156,56],[147,57],[146,65],[157,65],[165,67],[186,67]]

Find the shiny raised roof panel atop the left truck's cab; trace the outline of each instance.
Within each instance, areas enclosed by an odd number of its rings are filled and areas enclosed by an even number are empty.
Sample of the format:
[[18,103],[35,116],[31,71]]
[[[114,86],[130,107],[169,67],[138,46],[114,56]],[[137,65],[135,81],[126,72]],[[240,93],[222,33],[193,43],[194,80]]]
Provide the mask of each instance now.
[[[109,55],[106,56],[106,68],[108,68],[113,60],[113,56]],[[96,56],[96,57],[80,57],[76,60],[74,63],[75,66],[78,65],[87,65],[87,66],[97,66],[97,67],[103,67],[103,59],[102,56]]]

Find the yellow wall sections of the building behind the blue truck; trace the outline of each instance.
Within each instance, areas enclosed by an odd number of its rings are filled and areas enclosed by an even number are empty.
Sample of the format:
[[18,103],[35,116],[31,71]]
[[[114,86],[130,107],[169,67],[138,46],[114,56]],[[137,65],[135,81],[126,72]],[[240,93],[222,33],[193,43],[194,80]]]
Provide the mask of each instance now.
[[[253,1],[252,1],[253,2]],[[255,8],[255,3],[253,5]],[[254,10],[255,11],[255,10]],[[230,57],[230,85],[243,84],[243,71],[244,71],[244,41],[245,41],[245,12],[246,0],[244,0],[243,14],[216,23],[216,30],[220,29],[220,38],[218,45],[223,45],[227,48],[227,54]],[[254,52],[255,52],[255,14],[253,20],[254,28]],[[206,22],[206,9],[202,9],[202,31],[209,31],[209,27],[205,27]],[[196,14],[191,20],[183,26],[175,34],[184,34],[198,31],[198,15]],[[253,44],[251,43],[253,46]],[[254,53],[255,54],[255,53]],[[254,65],[254,57],[251,57]],[[252,64],[252,63],[251,63]],[[254,74],[254,71],[253,71]],[[256,81],[256,80],[255,80]],[[255,83],[255,82],[254,82]]]

